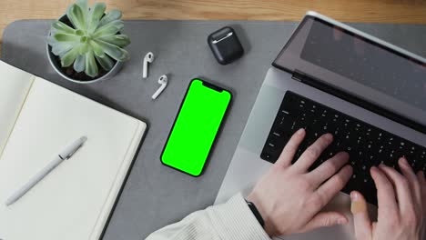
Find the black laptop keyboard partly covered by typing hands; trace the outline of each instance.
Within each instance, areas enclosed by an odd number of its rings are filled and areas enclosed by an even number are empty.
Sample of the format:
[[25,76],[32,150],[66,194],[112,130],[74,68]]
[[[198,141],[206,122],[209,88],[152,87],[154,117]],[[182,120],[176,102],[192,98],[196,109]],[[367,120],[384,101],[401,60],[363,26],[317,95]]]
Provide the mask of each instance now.
[[376,188],[370,176],[371,166],[382,163],[400,171],[397,161],[405,156],[415,172],[426,172],[425,147],[290,91],[284,95],[260,157],[275,163],[291,135],[299,128],[305,128],[307,135],[293,162],[320,135],[332,134],[334,141],[309,170],[340,151],[348,152],[353,175],[342,191],[347,194],[352,190],[360,191],[370,204],[377,205]]

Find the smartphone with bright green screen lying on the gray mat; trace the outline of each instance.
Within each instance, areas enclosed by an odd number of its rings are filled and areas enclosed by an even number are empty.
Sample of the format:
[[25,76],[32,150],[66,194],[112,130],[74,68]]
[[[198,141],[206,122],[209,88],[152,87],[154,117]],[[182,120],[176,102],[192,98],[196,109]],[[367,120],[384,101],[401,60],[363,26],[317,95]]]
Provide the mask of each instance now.
[[193,79],[161,154],[163,165],[201,175],[231,98],[228,90]]

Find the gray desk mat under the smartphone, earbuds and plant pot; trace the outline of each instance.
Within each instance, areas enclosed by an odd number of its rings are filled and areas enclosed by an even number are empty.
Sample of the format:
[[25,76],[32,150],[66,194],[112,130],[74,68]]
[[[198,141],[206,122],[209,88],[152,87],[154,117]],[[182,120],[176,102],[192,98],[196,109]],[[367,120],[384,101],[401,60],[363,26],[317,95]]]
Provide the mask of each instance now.
[[[213,203],[264,75],[296,26],[289,22],[127,21],[124,32],[132,39],[127,48],[131,60],[113,79],[76,85],[56,75],[46,59],[49,23],[23,20],[8,25],[3,38],[3,60],[134,115],[149,125],[106,228],[104,239],[108,240],[145,238],[159,227]],[[242,59],[227,66],[218,65],[206,43],[207,35],[223,25],[235,27],[246,49]],[[426,25],[351,25],[426,55]],[[142,80],[142,58],[148,51],[155,53],[156,61],[149,67],[149,78]],[[163,74],[169,75],[169,85],[157,101],[152,101],[157,78]],[[159,161],[178,106],[194,77],[219,83],[234,93],[228,119],[206,171],[198,178],[172,170]]]

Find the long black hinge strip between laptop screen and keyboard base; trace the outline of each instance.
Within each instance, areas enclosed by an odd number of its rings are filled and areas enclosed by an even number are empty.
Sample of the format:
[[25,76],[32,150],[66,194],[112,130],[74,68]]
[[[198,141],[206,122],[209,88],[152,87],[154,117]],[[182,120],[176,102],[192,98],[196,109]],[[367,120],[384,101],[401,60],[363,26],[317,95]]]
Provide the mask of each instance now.
[[314,77],[310,76],[310,75],[306,75],[302,72],[300,72],[299,70],[294,70],[292,73],[291,78],[293,78],[296,81],[299,81],[303,84],[306,85],[310,85],[314,88],[317,88],[323,92],[326,92],[330,95],[334,95],[336,97],[339,97],[345,101],[350,102],[351,104],[354,105],[359,105],[362,108],[365,108],[377,115],[381,115],[384,116],[386,118],[391,119],[392,121],[395,121],[401,125],[406,125],[416,131],[421,132],[422,134],[426,134],[426,126],[421,125],[420,123],[417,123],[405,116],[402,115],[398,115],[395,114],[383,107],[380,107],[379,105],[374,105],[372,103],[370,103],[367,100],[364,100],[356,95],[352,95],[349,92],[346,91],[342,91],[336,87],[333,87],[331,85],[327,85],[326,83],[315,79]]

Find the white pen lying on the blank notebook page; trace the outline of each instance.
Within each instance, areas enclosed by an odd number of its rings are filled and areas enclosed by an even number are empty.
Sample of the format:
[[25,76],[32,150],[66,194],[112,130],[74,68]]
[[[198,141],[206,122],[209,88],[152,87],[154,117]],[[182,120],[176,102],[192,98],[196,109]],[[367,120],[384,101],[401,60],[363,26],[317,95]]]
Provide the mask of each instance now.
[[40,182],[46,175],[48,175],[52,170],[56,168],[57,165],[60,165],[64,160],[70,158],[72,155],[76,153],[76,151],[86,142],[87,137],[82,136],[76,140],[72,145],[68,145],[64,151],[62,151],[56,158],[50,162],[50,164],[46,165],[38,174],[33,176],[28,183],[23,185],[19,190],[15,192],[14,195],[11,195],[7,198],[5,205],[14,204],[19,198],[25,195],[33,186],[35,186],[38,182]]

